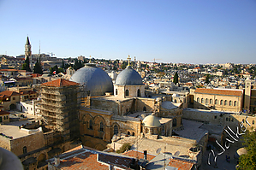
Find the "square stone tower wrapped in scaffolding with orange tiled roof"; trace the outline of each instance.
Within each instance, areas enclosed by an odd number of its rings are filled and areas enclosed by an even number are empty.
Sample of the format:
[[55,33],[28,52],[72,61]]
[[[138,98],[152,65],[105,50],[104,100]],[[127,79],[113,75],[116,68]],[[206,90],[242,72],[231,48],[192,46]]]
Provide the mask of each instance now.
[[51,130],[61,132],[64,141],[78,138],[79,84],[57,79],[41,85],[41,114]]

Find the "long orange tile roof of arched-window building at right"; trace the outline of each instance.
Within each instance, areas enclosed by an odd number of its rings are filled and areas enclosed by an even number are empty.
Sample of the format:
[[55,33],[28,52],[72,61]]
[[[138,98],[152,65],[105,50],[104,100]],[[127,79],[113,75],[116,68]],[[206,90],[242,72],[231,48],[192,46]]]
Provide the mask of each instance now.
[[243,91],[241,91],[241,90],[223,90],[223,89],[197,88],[194,91],[194,93],[241,97],[242,94],[243,94]]

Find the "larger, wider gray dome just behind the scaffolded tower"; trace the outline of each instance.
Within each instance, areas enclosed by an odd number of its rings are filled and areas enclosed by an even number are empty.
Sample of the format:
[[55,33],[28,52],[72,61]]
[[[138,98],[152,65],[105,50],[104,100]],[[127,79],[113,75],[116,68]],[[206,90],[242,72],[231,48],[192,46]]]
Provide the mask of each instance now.
[[95,64],[86,64],[77,70],[69,79],[84,85],[92,97],[102,96],[105,92],[113,92],[113,83],[110,76]]

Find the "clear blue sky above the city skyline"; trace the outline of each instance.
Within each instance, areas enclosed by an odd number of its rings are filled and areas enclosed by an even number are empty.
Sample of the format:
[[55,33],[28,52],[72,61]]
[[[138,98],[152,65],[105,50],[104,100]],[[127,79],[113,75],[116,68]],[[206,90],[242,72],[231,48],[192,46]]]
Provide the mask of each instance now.
[[0,0],[0,55],[256,63],[256,0]]

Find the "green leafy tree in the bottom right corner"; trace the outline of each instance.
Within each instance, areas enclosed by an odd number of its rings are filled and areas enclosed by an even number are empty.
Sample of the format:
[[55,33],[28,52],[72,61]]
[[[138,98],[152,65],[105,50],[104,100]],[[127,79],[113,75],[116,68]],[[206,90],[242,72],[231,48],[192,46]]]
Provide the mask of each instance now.
[[247,149],[247,154],[239,157],[239,167],[243,170],[256,169],[256,132],[247,131],[243,135],[243,146]]

